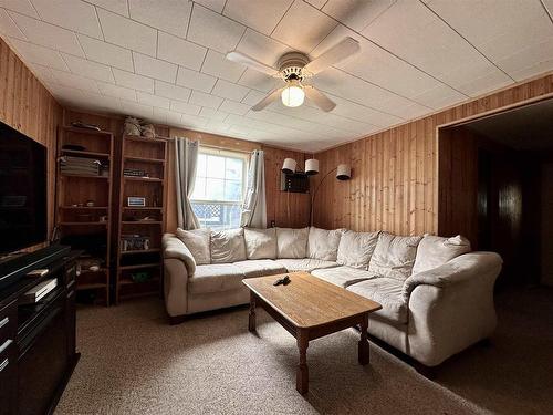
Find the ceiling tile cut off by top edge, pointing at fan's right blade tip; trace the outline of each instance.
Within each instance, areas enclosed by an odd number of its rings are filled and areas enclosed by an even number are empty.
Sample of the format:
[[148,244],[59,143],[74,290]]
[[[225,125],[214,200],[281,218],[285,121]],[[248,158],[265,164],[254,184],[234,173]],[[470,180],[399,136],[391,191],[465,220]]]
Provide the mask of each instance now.
[[322,10],[348,28],[361,32],[395,2],[396,0],[328,0]]

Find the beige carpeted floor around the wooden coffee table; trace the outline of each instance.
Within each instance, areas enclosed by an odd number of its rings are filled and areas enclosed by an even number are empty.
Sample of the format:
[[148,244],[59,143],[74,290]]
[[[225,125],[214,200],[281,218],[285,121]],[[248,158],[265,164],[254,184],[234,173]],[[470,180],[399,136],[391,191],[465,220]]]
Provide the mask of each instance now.
[[546,414],[553,407],[553,292],[497,298],[490,346],[446,362],[429,381],[358,333],[310,343],[310,392],[295,391],[295,341],[264,312],[167,324],[158,299],[77,313],[81,361],[56,414]]

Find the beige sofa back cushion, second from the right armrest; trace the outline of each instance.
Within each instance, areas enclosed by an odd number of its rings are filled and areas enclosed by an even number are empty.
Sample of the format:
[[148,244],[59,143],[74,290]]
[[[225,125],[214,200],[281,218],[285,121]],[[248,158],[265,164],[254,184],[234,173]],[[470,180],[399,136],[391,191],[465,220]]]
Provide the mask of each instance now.
[[421,239],[380,232],[368,270],[377,276],[405,281],[411,274]]

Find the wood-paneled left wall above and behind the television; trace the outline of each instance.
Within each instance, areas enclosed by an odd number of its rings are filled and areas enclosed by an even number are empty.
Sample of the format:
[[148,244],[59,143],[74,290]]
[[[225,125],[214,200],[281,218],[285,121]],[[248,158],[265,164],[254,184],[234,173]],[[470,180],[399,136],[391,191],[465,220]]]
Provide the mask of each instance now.
[[0,39],[0,121],[46,146],[49,236],[54,220],[55,142],[61,116],[62,108],[53,96]]

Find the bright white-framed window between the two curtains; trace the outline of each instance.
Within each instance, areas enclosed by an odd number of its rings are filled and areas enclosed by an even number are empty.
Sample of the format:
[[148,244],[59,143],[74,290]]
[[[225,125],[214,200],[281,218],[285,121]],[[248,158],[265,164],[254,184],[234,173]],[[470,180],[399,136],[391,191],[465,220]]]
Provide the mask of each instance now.
[[247,154],[200,148],[191,204],[202,228],[240,226],[247,162]]

